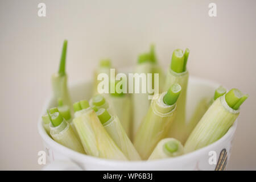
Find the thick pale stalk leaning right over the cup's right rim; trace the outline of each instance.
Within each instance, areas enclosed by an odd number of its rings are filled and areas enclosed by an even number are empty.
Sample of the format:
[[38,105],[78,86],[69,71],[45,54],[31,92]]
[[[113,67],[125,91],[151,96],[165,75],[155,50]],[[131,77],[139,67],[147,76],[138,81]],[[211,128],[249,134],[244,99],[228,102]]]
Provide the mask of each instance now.
[[247,97],[238,89],[231,89],[218,97],[189,135],[184,152],[195,151],[223,137],[237,119],[239,108]]

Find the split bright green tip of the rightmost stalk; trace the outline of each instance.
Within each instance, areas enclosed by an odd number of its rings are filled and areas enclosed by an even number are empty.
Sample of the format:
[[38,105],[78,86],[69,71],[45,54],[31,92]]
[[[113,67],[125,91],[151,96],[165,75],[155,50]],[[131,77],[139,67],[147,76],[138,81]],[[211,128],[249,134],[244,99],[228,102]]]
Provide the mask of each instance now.
[[241,104],[248,98],[248,95],[243,95],[242,92],[238,89],[231,89],[225,95],[226,103],[232,109],[239,109]]

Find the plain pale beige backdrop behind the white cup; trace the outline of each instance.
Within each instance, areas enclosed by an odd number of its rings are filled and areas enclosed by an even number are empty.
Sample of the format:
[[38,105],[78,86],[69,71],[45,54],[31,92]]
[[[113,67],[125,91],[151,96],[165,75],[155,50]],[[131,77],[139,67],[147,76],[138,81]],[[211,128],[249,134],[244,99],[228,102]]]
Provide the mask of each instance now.
[[[38,3],[47,7],[38,17]],[[208,16],[210,2],[217,17]],[[69,83],[92,78],[98,59],[134,65],[156,44],[159,61],[190,48],[191,75],[240,88],[243,104],[229,169],[256,169],[256,1],[0,1],[0,169],[41,169],[36,123],[51,93],[63,39]]]

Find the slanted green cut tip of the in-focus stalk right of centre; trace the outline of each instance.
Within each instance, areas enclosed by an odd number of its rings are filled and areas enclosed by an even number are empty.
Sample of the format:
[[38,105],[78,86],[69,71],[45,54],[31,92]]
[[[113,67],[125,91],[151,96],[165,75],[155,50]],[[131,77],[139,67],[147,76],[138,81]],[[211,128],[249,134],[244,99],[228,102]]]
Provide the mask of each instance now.
[[163,97],[164,104],[167,104],[170,106],[174,105],[177,99],[179,98],[180,92],[181,92],[181,86],[179,84],[172,85],[168,89],[168,92]]

